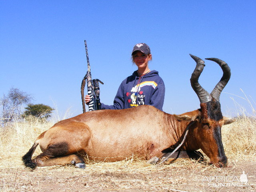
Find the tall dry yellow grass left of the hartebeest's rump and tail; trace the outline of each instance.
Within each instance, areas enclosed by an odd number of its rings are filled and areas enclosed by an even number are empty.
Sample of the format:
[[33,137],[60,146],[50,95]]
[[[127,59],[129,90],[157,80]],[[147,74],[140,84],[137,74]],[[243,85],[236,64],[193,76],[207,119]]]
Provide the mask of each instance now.
[[[32,121],[9,123],[0,128],[0,167],[22,165],[21,157],[36,138],[52,125],[52,122],[40,122],[35,118]],[[37,153],[40,151],[38,149]]]

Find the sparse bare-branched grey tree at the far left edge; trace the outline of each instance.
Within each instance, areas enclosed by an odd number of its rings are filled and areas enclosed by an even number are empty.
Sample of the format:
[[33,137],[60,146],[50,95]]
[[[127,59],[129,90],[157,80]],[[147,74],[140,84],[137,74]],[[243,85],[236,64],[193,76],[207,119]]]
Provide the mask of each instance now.
[[10,122],[14,118],[20,118],[22,114],[22,105],[27,104],[32,100],[32,96],[19,90],[18,88],[10,88],[8,96],[3,94],[0,98],[1,119],[3,122]]

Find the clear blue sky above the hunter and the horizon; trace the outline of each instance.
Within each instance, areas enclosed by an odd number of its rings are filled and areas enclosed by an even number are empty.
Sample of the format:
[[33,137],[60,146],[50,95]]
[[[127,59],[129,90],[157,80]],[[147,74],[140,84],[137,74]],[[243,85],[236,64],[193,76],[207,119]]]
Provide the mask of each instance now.
[[[112,104],[122,80],[136,70],[133,46],[145,42],[153,58],[149,67],[166,86],[165,112],[199,108],[190,86],[195,62],[189,54],[226,61],[232,75],[220,96],[222,112],[236,115],[230,97],[250,112],[238,96],[244,98],[240,88],[248,98],[256,96],[255,18],[254,0],[1,1],[0,96],[19,88],[34,104],[57,106],[60,115],[68,109],[71,116],[82,113],[86,40],[92,78],[104,82],[101,102]],[[214,62],[205,64],[199,82],[211,92],[222,70]]]

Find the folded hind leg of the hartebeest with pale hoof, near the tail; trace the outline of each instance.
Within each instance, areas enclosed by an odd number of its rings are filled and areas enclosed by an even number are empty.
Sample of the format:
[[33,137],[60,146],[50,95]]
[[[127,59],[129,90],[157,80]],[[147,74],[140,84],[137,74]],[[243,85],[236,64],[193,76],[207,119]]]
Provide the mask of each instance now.
[[34,162],[36,166],[39,166],[39,167],[65,165],[65,164],[73,164],[78,168],[86,167],[84,160],[75,154],[64,156],[64,157],[50,158],[49,156],[46,156],[44,155],[44,153],[42,153],[38,155],[36,158],[34,158],[32,162]]

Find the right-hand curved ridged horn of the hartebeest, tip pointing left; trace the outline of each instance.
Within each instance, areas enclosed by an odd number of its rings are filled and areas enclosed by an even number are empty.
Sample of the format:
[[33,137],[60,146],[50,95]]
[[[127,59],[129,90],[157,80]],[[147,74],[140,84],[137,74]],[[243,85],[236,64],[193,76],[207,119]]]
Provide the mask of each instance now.
[[217,59],[217,58],[206,58],[206,59],[218,63],[223,71],[223,76],[220,79],[220,82],[218,82],[216,84],[216,86],[214,87],[214,89],[212,90],[212,92],[210,94],[213,98],[215,98],[219,102],[220,101],[220,93],[222,92],[222,90],[224,89],[226,84],[228,83],[230,76],[231,76],[230,68],[229,68],[228,64],[226,64],[226,62],[224,62],[220,59]]

